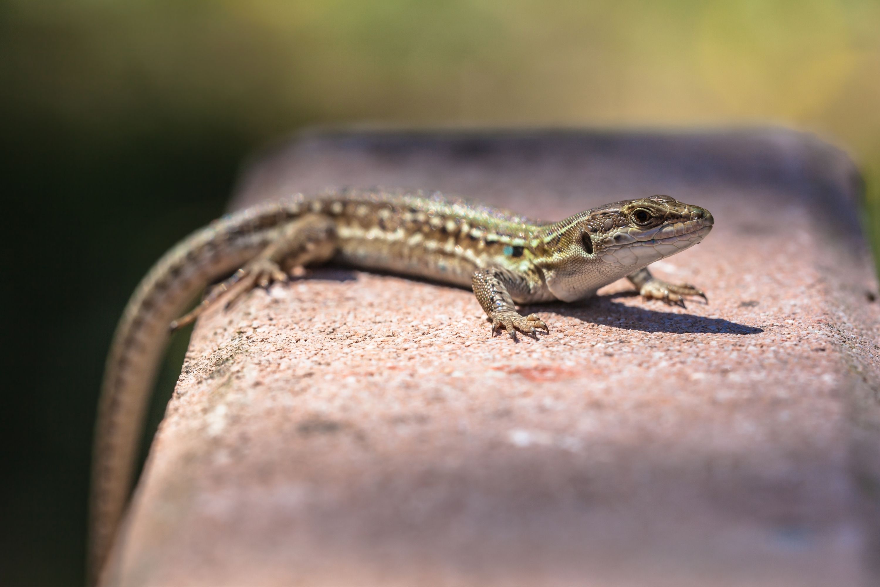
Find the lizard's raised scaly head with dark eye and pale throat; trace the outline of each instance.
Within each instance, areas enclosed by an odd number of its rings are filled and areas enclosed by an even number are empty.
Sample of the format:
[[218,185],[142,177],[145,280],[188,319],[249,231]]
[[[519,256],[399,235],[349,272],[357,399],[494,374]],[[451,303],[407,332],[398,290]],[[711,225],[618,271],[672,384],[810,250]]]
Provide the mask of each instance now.
[[554,297],[572,302],[696,245],[714,223],[707,209],[668,195],[614,202],[547,226],[536,265]]

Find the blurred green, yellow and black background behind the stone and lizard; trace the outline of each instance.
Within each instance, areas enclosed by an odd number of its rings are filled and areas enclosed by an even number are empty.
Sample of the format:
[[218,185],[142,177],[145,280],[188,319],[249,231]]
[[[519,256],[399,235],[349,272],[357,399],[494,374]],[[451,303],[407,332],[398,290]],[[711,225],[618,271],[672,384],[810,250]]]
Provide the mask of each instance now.
[[363,121],[782,124],[862,165],[878,235],[878,106],[876,0],[0,2],[0,582],[84,580],[115,320],[260,146]]

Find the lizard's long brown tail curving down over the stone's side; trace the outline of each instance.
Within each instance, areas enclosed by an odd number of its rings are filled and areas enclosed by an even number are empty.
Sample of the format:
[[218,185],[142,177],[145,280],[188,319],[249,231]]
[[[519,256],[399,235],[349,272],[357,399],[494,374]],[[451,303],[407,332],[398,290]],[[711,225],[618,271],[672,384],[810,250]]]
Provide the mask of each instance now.
[[143,417],[174,319],[204,287],[266,246],[290,211],[277,206],[238,214],[197,231],[143,278],[116,329],[107,357],[92,457],[89,579],[98,581],[128,503]]

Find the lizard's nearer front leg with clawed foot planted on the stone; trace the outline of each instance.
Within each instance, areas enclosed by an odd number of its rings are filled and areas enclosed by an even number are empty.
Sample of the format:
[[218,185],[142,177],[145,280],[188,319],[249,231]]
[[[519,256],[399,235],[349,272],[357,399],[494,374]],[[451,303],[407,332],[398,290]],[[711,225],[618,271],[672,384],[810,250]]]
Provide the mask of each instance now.
[[488,268],[474,272],[472,282],[477,301],[492,320],[493,334],[500,327],[507,330],[510,338],[516,338],[517,330],[525,334],[535,334],[536,328],[543,328],[550,332],[538,314],[523,316],[517,312],[510,290],[527,290],[523,277],[500,268]]

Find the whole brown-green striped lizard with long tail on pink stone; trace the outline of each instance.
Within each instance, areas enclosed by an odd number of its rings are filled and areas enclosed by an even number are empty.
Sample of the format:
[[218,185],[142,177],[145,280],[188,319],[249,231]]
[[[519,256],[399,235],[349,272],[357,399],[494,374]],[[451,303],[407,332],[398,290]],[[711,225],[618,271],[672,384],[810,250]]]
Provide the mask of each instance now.
[[693,285],[657,279],[647,266],[696,245],[713,224],[707,209],[668,195],[550,223],[442,194],[343,190],[259,204],[195,231],[137,286],[107,358],[92,466],[92,578],[121,524],[144,411],[170,335],[203,312],[334,261],[472,287],[491,334],[503,328],[513,338],[517,331],[538,338],[549,327],[537,314],[520,314],[517,304],[583,300],[624,276],[646,299],[707,299]]

